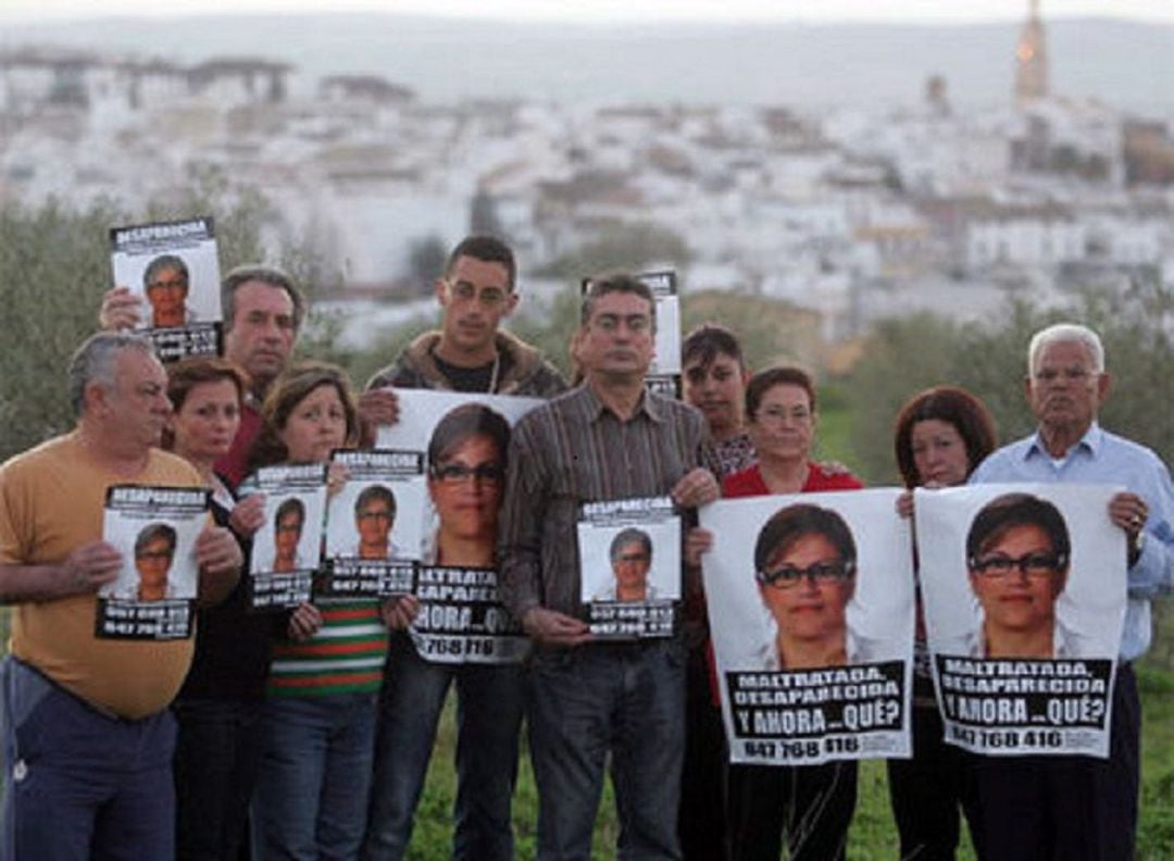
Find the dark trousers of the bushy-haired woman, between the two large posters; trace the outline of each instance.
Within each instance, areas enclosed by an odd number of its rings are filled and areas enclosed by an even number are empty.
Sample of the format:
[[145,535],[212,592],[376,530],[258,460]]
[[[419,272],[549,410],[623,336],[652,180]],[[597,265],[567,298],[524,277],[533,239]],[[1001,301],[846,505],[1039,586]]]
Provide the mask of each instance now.
[[913,758],[888,764],[889,800],[903,859],[953,859],[960,832],[959,805],[967,822],[974,821],[971,759],[972,754],[944,741],[937,707],[913,708]]

